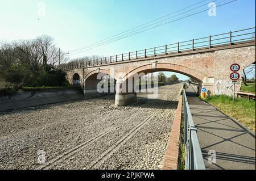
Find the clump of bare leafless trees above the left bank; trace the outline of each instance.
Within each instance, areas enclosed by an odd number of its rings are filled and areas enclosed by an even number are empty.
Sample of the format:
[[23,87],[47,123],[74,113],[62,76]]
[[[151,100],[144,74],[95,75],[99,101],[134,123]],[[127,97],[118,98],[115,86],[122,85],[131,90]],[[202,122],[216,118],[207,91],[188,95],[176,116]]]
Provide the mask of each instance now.
[[[60,54],[61,61],[67,60]],[[59,49],[47,35],[34,40],[0,42],[0,79],[18,86],[34,82],[43,71],[57,69]]]

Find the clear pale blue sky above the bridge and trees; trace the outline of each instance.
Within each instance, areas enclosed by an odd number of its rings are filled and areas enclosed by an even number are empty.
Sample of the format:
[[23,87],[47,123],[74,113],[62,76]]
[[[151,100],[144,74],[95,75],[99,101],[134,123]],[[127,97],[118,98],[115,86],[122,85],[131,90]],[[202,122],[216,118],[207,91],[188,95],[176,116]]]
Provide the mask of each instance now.
[[[46,5],[46,16],[38,15],[39,2]],[[0,40],[47,34],[61,49],[71,51],[197,2],[200,0],[0,0]],[[71,58],[110,56],[250,27],[255,27],[255,1],[237,0],[217,7],[217,16],[203,12]]]

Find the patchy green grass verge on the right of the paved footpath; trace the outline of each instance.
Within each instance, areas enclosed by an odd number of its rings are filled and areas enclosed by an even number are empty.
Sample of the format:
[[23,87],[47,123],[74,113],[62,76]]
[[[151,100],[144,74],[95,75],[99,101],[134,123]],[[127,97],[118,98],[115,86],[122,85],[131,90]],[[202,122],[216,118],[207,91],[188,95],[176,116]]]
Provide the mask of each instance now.
[[233,102],[232,97],[227,95],[214,95],[205,98],[218,110],[224,112],[230,117],[238,120],[247,128],[255,131],[255,100],[246,98],[236,98]]

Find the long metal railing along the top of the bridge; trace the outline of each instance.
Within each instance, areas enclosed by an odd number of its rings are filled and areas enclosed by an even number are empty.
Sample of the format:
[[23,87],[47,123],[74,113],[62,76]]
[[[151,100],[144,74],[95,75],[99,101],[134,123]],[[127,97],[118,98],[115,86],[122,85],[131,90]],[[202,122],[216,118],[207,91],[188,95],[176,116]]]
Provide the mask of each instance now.
[[117,54],[115,56],[109,56],[100,58],[100,60],[86,61],[83,63],[76,63],[72,65],[62,65],[62,69],[76,69],[86,68],[89,66],[110,64],[114,62],[122,62],[129,60],[138,60],[148,57],[164,56],[168,54],[178,54],[182,52],[192,52],[194,50],[207,50],[216,47],[228,47],[234,44],[241,43],[254,43],[255,42],[255,27],[247,28],[239,31],[230,31],[227,33],[221,33],[218,35],[212,35],[202,37],[200,39],[192,39],[188,41],[182,41],[174,44],[163,45],[160,47],[148,48],[138,50],[135,52]]

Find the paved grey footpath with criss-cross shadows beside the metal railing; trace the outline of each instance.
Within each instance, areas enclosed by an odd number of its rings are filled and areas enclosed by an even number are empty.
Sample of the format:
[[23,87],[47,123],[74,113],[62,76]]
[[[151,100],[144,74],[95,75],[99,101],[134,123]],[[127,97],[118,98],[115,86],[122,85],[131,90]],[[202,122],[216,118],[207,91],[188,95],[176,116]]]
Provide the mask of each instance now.
[[[207,169],[255,170],[255,132],[200,100],[196,90],[186,92]],[[216,151],[216,163],[208,162],[209,150]]]

